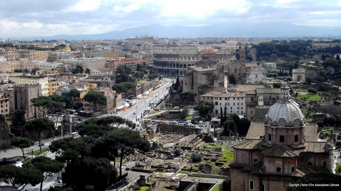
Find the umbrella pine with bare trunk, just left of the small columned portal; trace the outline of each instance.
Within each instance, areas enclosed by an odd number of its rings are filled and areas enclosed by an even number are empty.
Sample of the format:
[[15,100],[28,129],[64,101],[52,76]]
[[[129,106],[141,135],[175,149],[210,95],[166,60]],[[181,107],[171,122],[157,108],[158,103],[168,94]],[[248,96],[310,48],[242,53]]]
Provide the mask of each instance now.
[[42,152],[41,133],[43,131],[51,131],[55,127],[55,123],[52,120],[48,120],[46,118],[37,118],[37,119],[27,122],[24,127],[25,129],[36,133],[39,139],[38,141],[39,141],[40,152]]

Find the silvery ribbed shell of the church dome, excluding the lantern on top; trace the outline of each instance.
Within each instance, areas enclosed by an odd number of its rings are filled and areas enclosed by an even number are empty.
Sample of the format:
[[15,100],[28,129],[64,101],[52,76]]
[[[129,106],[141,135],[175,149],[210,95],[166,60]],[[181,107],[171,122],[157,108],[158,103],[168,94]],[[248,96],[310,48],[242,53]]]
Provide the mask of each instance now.
[[266,120],[268,118],[271,118],[272,122],[278,122],[280,118],[283,118],[286,123],[293,123],[296,118],[299,121],[304,119],[299,105],[292,99],[285,101],[279,100],[275,105],[271,106]]

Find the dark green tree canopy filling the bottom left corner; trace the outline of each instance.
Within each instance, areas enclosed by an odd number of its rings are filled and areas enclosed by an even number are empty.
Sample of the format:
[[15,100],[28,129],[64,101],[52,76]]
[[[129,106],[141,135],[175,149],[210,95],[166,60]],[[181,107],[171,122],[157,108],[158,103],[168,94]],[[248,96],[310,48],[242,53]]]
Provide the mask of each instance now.
[[24,190],[28,184],[38,185],[43,178],[43,173],[34,166],[19,167],[12,164],[0,166],[0,181],[12,186],[22,186],[19,191]]

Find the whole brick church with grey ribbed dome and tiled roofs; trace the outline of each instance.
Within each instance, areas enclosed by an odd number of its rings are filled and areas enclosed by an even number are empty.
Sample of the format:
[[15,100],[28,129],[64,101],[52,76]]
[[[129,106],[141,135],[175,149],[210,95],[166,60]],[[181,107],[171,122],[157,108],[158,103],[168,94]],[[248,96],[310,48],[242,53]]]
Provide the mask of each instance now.
[[332,171],[333,145],[318,141],[320,129],[306,124],[289,90],[281,87],[265,123],[251,123],[246,140],[234,144],[231,190],[285,191],[310,172]]

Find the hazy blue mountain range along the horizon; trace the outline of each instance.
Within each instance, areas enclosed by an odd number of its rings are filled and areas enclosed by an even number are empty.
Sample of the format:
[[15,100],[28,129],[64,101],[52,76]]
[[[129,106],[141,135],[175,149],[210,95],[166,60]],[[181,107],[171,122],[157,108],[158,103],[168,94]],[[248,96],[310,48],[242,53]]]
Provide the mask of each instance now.
[[299,26],[291,23],[220,23],[199,27],[147,25],[128,28],[122,31],[111,31],[100,34],[59,34],[54,36],[21,36],[10,39],[64,39],[64,40],[98,40],[125,39],[143,34],[159,37],[328,37],[341,38],[341,27]]

